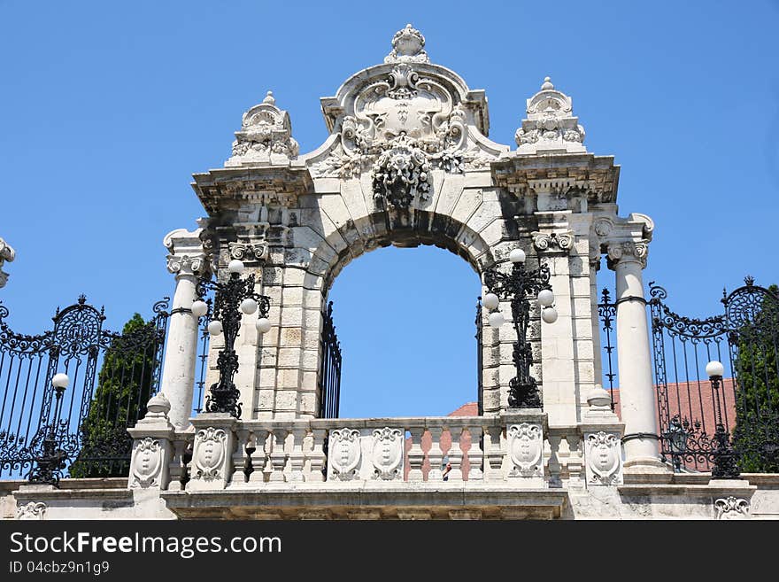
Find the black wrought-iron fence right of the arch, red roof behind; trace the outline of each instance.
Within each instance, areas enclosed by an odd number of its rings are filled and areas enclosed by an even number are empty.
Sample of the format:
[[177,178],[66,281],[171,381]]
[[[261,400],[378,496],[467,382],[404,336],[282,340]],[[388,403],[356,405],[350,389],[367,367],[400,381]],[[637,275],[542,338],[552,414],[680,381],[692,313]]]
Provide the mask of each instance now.
[[[721,423],[741,471],[779,472],[779,295],[744,283],[706,319],[676,314],[650,283],[660,449],[676,470],[713,468]],[[724,365],[721,382],[704,372],[713,360]]]

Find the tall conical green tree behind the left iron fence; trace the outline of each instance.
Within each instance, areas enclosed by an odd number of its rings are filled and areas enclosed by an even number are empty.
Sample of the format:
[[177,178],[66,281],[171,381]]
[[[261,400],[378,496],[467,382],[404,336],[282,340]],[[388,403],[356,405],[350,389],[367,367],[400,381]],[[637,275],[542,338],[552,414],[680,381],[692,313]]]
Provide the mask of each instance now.
[[154,320],[134,314],[105,350],[89,413],[81,422],[81,451],[71,477],[125,477],[132,438],[127,427],[146,411],[158,345]]

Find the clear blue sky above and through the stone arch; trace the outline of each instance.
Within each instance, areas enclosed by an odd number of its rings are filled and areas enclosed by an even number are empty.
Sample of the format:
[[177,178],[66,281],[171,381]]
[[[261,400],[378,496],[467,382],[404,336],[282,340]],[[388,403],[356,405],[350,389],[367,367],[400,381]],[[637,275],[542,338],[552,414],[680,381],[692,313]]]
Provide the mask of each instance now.
[[[574,98],[588,149],[621,165],[621,213],[657,223],[646,281],[677,311],[719,313],[722,287],[746,274],[779,281],[777,4],[376,6],[0,0],[0,237],[18,251],[0,299],[13,327],[48,327],[81,292],[113,328],[148,314],[173,291],[162,237],[204,213],[190,175],[220,167],[241,114],[273,89],[311,151],[327,136],[319,97],[382,62],[406,22],[434,62],[486,89],[498,142],[513,144],[544,75]],[[345,268],[332,293],[343,414],[474,400],[478,291],[435,248]]]

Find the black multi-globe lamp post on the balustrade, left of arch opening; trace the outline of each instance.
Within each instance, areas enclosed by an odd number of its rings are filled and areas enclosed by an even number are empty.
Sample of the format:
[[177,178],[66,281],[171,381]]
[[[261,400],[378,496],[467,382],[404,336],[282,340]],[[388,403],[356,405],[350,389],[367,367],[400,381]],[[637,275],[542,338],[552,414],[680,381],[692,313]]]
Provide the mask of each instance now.
[[192,304],[192,314],[197,317],[207,314],[208,304],[202,299],[204,291],[207,289],[215,291],[212,320],[208,322],[208,332],[212,337],[224,332],[225,346],[217,358],[219,380],[211,385],[210,394],[205,399],[205,411],[226,412],[235,418],[241,418],[241,403],[238,401],[241,392],[235,388],[233,381],[235,372],[238,371],[235,338],[238,337],[238,330],[241,328],[242,312],[253,314],[259,309],[260,317],[256,323],[258,332],[265,333],[270,330],[271,323],[267,319],[270,299],[254,292],[253,274],[245,279],[241,278],[243,262],[231,260],[228,271],[230,276],[224,283],[205,279],[197,283],[197,295],[201,299],[197,299]]

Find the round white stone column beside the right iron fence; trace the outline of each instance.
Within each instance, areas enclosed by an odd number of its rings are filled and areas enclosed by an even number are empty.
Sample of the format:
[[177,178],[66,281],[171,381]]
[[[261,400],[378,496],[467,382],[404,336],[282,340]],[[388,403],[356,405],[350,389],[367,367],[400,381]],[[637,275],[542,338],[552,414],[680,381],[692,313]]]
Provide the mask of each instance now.
[[608,267],[616,274],[617,360],[620,405],[625,423],[625,469],[664,469],[659,462],[657,397],[646,319],[642,270],[647,240],[608,245]]

